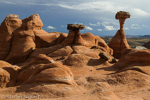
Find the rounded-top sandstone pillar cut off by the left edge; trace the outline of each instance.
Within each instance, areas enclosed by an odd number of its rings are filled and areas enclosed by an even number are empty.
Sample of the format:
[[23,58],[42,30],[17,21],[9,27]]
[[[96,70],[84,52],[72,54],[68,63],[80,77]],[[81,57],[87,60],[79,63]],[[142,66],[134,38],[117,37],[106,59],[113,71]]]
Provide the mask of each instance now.
[[18,29],[22,24],[18,15],[8,15],[0,26],[0,60],[4,60],[11,47],[13,31]]

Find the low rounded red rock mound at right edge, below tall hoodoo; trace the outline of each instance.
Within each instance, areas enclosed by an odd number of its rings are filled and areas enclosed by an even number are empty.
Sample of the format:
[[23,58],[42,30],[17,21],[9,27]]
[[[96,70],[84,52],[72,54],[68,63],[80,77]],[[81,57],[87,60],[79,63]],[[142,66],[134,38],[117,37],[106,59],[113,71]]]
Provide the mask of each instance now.
[[150,50],[136,50],[136,49],[125,49],[123,51],[123,57],[120,58],[118,63],[113,65],[114,68],[123,70],[137,70],[143,73],[149,73],[149,56]]

